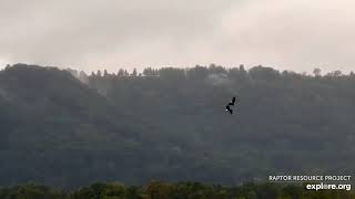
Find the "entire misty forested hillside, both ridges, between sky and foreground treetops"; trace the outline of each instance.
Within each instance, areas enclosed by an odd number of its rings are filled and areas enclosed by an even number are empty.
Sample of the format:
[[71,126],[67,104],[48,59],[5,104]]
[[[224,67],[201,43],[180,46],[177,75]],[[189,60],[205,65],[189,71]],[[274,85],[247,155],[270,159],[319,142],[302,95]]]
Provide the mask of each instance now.
[[149,67],[83,84],[17,64],[0,73],[0,185],[353,175],[354,105],[355,75],[339,71]]

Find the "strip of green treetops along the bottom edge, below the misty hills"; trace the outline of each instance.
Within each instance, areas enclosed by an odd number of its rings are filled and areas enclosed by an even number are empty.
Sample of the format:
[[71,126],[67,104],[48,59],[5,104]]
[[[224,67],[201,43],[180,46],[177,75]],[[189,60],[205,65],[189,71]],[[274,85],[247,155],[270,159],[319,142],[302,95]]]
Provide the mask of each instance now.
[[148,186],[124,186],[120,182],[97,182],[89,187],[63,191],[44,186],[27,185],[0,188],[1,199],[353,199],[354,191],[306,190],[304,186],[247,184],[223,187],[199,182],[151,181]]

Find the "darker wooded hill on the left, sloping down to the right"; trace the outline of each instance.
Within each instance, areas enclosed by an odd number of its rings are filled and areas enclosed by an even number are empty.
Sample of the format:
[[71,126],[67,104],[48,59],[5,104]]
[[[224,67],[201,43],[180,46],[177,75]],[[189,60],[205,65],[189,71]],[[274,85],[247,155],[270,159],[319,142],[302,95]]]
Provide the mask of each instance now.
[[145,148],[155,150],[145,138],[154,137],[151,125],[53,67],[1,71],[0,91],[0,185],[140,181],[132,172],[149,155]]

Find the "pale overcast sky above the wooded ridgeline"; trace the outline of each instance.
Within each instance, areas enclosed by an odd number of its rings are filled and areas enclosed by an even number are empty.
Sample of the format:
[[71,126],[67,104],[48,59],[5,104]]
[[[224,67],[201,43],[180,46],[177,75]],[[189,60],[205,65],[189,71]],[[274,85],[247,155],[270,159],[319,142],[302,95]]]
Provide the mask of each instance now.
[[0,65],[355,71],[354,0],[0,0]]

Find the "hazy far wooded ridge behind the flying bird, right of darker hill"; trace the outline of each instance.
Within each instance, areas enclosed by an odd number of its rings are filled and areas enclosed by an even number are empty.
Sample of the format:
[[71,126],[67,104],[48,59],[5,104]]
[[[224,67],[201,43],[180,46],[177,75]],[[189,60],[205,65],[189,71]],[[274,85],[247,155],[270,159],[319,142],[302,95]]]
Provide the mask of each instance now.
[[[172,151],[213,163],[214,179],[354,172],[354,73],[322,75],[315,69],[307,75],[214,64],[125,71],[93,73],[89,84],[118,107],[134,103],[138,115],[174,140]],[[224,105],[234,95],[240,103],[231,117]],[[200,170],[214,174],[206,165]],[[220,179],[222,170],[232,175]]]

